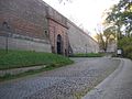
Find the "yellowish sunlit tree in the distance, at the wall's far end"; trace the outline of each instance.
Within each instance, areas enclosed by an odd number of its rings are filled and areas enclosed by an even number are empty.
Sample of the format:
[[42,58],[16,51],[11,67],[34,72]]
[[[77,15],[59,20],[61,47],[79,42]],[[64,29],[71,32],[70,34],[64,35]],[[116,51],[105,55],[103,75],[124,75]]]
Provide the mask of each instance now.
[[116,41],[116,28],[109,26],[105,29],[102,32],[99,31],[99,33],[97,33],[96,38],[99,43],[100,50],[107,52],[108,45]]

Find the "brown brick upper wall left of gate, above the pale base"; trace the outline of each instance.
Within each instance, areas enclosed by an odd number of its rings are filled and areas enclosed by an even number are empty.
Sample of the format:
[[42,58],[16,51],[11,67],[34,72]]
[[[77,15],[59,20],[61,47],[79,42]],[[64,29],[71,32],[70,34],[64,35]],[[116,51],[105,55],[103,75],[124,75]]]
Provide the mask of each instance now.
[[48,40],[46,7],[38,0],[0,0],[0,26],[3,22],[13,33]]

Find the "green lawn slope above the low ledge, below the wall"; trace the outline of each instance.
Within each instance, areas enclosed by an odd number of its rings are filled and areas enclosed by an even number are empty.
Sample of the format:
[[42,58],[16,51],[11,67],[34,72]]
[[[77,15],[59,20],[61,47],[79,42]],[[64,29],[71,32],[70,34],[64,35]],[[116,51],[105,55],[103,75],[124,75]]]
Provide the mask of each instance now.
[[68,57],[52,53],[0,50],[0,69],[20,68],[29,66],[63,66],[72,64]]

